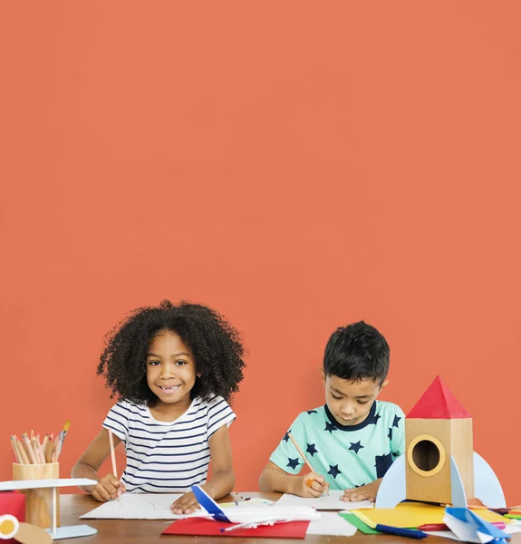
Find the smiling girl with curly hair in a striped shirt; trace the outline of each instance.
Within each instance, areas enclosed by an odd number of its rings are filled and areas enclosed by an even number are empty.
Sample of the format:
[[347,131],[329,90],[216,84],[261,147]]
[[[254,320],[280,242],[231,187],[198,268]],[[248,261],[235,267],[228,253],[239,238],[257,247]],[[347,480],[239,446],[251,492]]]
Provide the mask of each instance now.
[[[107,335],[98,374],[118,403],[72,477],[97,480],[83,489],[100,501],[124,491],[183,493],[176,514],[197,508],[192,485],[214,499],[227,495],[235,483],[227,428],[236,418],[227,401],[243,378],[243,355],[236,329],[207,306],[164,300],[135,310]],[[127,453],[121,480],[98,476],[109,429]]]

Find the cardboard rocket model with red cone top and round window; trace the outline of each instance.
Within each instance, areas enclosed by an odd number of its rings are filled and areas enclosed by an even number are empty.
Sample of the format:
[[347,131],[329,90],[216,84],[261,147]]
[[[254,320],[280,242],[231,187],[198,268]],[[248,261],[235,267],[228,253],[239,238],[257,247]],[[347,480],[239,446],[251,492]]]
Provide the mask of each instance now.
[[405,419],[405,452],[381,481],[376,508],[422,500],[467,508],[506,506],[497,476],[472,448],[472,419],[439,376]]

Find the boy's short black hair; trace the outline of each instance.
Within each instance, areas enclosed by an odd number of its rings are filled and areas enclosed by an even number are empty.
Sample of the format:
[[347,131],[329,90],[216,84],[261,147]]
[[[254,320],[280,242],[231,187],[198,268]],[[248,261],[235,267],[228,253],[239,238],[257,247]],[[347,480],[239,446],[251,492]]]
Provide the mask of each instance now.
[[383,383],[389,372],[389,345],[363,321],[341,326],[330,336],[323,355],[326,376]]

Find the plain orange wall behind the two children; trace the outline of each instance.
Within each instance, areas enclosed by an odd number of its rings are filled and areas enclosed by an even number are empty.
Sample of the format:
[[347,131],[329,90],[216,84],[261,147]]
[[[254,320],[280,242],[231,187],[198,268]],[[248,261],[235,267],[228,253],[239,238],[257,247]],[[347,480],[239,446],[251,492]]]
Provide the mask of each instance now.
[[9,434],[70,473],[111,406],[102,335],[163,297],[244,334],[237,489],[323,403],[337,325],[441,374],[517,487],[521,4],[3,2],[1,354]]

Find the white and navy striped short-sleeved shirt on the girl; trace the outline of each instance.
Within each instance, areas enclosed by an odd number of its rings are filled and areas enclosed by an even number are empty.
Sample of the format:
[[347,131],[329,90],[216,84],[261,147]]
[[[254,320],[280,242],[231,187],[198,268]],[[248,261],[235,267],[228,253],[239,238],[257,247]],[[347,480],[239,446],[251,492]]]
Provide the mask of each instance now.
[[144,404],[121,401],[112,406],[103,427],[125,444],[127,468],[121,481],[127,491],[185,493],[207,480],[208,441],[235,418],[220,396],[211,401],[196,397],[174,422],[159,422]]

